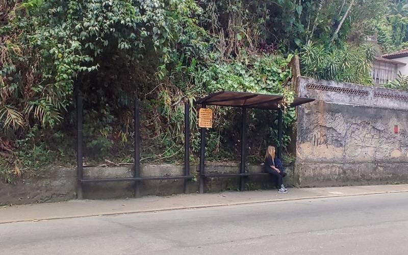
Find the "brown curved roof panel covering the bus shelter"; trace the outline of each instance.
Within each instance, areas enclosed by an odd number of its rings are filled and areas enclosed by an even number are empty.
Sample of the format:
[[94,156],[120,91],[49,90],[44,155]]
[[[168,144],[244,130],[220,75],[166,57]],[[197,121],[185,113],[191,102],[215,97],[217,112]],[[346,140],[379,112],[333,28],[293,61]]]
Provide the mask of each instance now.
[[[284,96],[274,94],[257,94],[248,92],[220,91],[198,99],[197,104],[213,106],[246,107],[264,110],[278,110]],[[295,97],[290,107],[314,101],[313,98]]]

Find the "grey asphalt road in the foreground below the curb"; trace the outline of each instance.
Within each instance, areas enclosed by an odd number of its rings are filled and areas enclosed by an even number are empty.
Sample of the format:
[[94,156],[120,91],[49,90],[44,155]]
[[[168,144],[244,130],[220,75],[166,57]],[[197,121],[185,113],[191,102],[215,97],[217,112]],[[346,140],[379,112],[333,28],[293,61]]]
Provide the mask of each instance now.
[[0,254],[408,254],[408,193],[0,224]]

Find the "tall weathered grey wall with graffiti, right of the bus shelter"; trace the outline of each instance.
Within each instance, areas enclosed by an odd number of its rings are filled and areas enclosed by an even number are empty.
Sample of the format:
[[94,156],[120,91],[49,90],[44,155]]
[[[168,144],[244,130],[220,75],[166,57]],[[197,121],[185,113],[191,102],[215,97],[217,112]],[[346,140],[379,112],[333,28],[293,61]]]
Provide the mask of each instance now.
[[305,77],[297,90],[316,99],[297,109],[300,186],[408,182],[408,93]]

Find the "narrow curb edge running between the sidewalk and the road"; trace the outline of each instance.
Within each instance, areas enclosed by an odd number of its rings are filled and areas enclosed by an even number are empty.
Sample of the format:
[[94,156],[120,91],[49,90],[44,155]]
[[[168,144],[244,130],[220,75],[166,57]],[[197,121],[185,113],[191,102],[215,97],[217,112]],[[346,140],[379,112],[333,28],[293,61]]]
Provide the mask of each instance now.
[[210,205],[197,205],[197,206],[185,206],[185,207],[167,207],[167,208],[165,207],[165,208],[158,208],[158,209],[123,211],[123,212],[115,212],[115,213],[109,212],[109,213],[97,213],[97,214],[76,215],[76,216],[49,217],[49,218],[37,218],[37,219],[34,218],[34,219],[25,219],[25,220],[10,220],[10,221],[0,221],[0,224],[17,223],[17,222],[38,222],[38,221],[57,220],[57,219],[86,218],[86,217],[95,217],[95,216],[111,216],[111,215],[120,215],[120,214],[126,215],[126,214],[137,214],[137,213],[155,213],[155,212],[175,211],[175,210],[185,210],[185,209],[201,209],[201,208],[213,208],[213,207],[251,205],[251,204],[256,204],[256,203],[284,202],[284,201],[296,201],[296,200],[305,200],[305,199],[364,196],[364,195],[405,193],[405,192],[408,192],[408,190],[381,191],[381,192],[360,193],[360,194],[351,194],[351,195],[321,195],[321,196],[310,196],[310,197],[299,197],[299,198],[267,199],[267,200],[232,202],[232,203],[215,203],[212,205],[210,204]]

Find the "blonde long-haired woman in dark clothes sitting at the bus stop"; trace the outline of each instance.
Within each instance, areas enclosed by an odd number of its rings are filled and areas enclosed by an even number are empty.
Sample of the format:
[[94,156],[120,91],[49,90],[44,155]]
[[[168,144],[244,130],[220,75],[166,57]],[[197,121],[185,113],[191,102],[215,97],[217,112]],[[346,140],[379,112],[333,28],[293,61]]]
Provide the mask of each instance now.
[[277,157],[275,158],[275,147],[268,146],[264,164],[265,172],[276,177],[278,188],[277,192],[287,193],[288,190],[283,185],[283,177],[286,176],[286,173],[284,172],[281,160],[279,160]]

